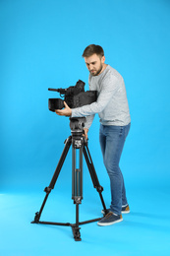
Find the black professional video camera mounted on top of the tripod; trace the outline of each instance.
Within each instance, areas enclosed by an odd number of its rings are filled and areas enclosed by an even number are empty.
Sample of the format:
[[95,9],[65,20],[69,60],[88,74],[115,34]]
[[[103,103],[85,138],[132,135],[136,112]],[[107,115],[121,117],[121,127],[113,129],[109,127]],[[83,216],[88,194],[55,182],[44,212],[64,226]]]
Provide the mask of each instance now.
[[67,89],[51,89],[48,91],[58,92],[61,98],[48,98],[48,108],[50,111],[55,111],[55,109],[62,109],[64,107],[64,101],[68,104],[70,108],[76,108],[83,105],[90,104],[97,99],[97,91],[86,91],[85,83],[79,80],[74,87],[69,87]]

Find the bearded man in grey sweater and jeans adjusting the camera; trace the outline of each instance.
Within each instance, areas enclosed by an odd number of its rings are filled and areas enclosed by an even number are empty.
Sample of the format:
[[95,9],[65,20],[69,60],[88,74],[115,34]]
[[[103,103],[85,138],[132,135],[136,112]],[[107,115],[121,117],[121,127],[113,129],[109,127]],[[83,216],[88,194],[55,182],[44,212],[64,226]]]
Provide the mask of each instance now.
[[124,178],[119,167],[126,137],[130,130],[131,117],[125,84],[122,76],[110,65],[106,65],[101,46],[90,44],[83,57],[89,71],[89,90],[97,91],[97,101],[71,109],[56,110],[58,115],[86,116],[85,138],[95,113],[100,117],[99,141],[104,165],[110,178],[111,205],[109,213],[98,222],[99,225],[123,221],[122,213],[129,213]]

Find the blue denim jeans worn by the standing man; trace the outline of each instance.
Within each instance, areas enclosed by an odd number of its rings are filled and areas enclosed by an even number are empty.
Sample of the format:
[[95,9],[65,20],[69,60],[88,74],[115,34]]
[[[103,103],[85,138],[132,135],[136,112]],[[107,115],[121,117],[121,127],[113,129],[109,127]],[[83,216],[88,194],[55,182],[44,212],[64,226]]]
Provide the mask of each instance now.
[[116,215],[121,215],[122,206],[128,204],[119,161],[131,124],[126,126],[100,125],[99,141],[104,165],[110,178],[111,206]]

